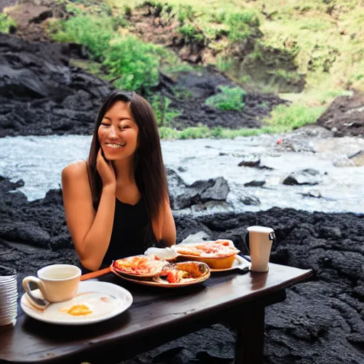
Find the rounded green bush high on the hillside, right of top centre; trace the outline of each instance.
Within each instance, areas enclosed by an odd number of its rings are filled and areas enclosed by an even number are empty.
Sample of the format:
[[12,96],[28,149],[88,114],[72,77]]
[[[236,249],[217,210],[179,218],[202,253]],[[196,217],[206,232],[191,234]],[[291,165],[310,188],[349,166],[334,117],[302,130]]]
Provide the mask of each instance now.
[[252,28],[259,27],[259,18],[254,11],[239,11],[226,16],[225,23],[229,26],[230,41],[240,42],[252,33]]

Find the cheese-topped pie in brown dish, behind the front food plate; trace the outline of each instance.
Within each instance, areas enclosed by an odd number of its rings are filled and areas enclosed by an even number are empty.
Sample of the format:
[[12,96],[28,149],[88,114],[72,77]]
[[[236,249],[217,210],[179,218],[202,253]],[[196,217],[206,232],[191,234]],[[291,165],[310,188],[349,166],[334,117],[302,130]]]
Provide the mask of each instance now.
[[238,250],[232,240],[193,242],[174,245],[178,257],[204,262],[212,269],[227,269],[234,264]]

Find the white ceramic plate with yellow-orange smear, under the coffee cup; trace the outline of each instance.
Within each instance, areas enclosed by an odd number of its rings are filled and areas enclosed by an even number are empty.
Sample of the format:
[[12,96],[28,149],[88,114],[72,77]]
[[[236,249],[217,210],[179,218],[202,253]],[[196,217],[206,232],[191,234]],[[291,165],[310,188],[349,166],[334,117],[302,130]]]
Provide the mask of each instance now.
[[[40,295],[38,289],[32,291]],[[129,309],[132,294],[108,282],[80,282],[77,294],[68,301],[50,304],[46,309],[36,309],[27,294],[21,297],[23,311],[40,321],[60,325],[87,325],[111,319]]]

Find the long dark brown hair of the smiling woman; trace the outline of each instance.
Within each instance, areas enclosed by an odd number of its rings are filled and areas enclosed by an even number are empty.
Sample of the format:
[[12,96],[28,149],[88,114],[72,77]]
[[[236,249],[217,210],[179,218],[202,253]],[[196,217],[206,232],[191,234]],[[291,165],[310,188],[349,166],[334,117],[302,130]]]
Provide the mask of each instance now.
[[[130,112],[139,127],[138,149],[135,151],[135,181],[143,196],[146,213],[149,220],[161,235],[161,224],[164,215],[164,206],[168,200],[168,186],[166,170],[164,169],[161,141],[154,111],[144,97],[135,92],[114,91],[108,95],[97,114],[95,129],[92,136],[90,154],[87,160],[88,176],[92,192],[92,203],[95,210],[100,203],[102,180],[97,172],[96,159],[100,149],[97,131],[107,110],[115,102],[129,103]],[[160,240],[161,236],[156,236]]]

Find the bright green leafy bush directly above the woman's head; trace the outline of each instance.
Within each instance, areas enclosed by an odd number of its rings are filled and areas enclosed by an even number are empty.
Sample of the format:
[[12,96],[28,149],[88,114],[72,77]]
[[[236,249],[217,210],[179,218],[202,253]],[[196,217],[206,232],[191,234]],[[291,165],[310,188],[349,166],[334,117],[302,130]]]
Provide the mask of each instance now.
[[159,56],[156,46],[134,36],[117,38],[107,50],[103,63],[110,80],[122,90],[146,91],[159,79]]

